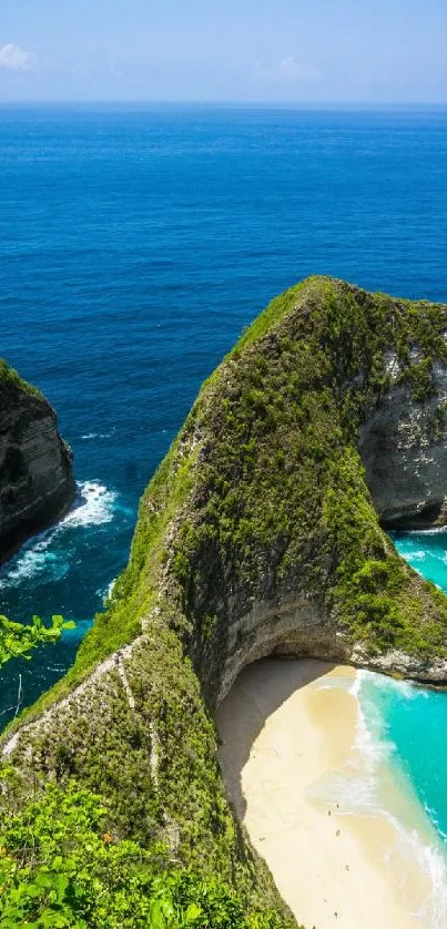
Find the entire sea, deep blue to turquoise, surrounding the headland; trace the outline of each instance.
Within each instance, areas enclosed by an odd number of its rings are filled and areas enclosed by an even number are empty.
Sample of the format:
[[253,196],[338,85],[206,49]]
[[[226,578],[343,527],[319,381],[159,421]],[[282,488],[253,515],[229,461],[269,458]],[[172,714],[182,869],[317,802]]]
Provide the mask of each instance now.
[[[72,663],[201,382],[275,294],[318,273],[447,298],[446,163],[446,110],[0,108],[0,356],[78,480],[0,572],[0,612],[78,624],[2,672],[1,724]],[[395,542],[447,590],[445,533]],[[447,695],[366,675],[359,698],[441,840]]]

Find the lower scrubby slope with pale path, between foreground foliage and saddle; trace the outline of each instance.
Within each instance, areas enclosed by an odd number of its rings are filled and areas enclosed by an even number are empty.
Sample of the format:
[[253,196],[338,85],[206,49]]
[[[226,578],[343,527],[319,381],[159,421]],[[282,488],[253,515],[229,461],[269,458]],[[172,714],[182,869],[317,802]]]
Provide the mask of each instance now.
[[146,849],[161,841],[177,866],[219,875],[245,913],[276,907],[281,926],[294,925],[228,809],[214,725],[177,636],[154,629],[125,673],[133,705],[113,664],[100,687],[63,705],[50,737],[44,728],[27,735],[4,809],[21,809],[30,785],[40,796],[50,773],[60,785],[74,779],[106,802],[114,836]]

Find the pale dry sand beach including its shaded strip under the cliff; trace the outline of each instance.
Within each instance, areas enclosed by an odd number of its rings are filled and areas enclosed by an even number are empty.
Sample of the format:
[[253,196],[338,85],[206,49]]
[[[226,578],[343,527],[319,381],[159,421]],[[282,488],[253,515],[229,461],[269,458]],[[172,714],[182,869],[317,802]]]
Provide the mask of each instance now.
[[379,816],[344,815],[336,788],[331,799],[321,789],[336,784],[356,735],[355,696],[321,686],[334,675],[355,671],[266,660],[243,672],[217,714],[228,795],[306,929],[420,929],[409,913],[428,879],[412,861],[396,866],[397,829]]

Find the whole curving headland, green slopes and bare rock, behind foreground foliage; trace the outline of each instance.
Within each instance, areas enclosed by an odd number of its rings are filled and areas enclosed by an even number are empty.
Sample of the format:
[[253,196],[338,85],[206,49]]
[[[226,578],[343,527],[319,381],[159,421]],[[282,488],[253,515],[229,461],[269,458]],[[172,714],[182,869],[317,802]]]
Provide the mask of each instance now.
[[447,307],[328,278],[273,302],[151,481],[73,670],[3,737],[6,808],[75,778],[118,835],[160,836],[281,909],[228,809],[212,715],[271,653],[447,682],[447,600],[380,527],[444,519],[446,333]]

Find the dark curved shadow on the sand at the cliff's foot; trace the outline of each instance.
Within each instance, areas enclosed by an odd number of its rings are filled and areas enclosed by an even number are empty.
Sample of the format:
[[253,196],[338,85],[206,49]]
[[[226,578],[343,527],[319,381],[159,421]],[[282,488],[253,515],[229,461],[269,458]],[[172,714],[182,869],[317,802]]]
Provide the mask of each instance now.
[[242,770],[266,719],[295,691],[317,681],[334,666],[331,662],[313,659],[262,659],[244,668],[219,707],[221,768],[228,799],[240,821],[246,810]]

